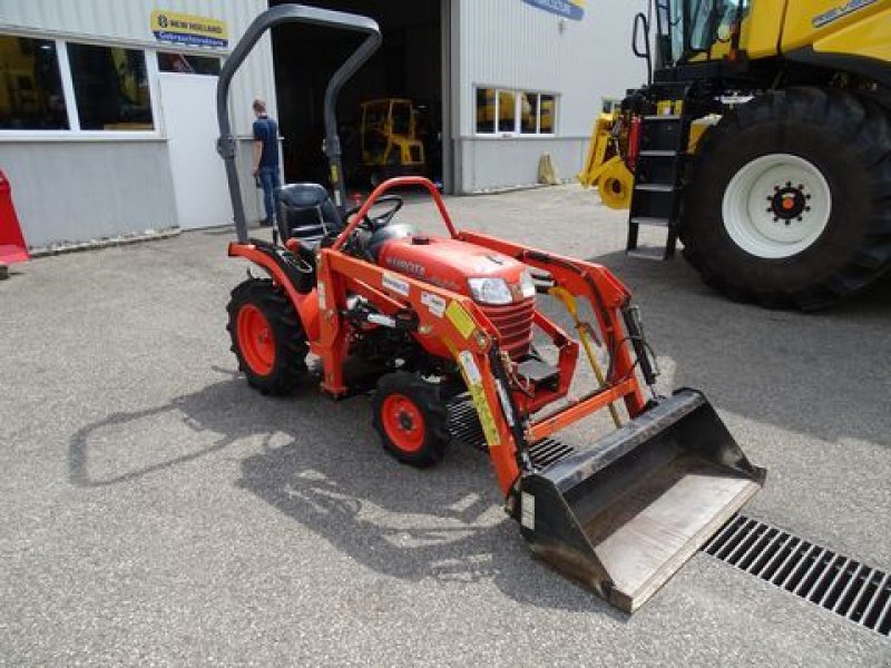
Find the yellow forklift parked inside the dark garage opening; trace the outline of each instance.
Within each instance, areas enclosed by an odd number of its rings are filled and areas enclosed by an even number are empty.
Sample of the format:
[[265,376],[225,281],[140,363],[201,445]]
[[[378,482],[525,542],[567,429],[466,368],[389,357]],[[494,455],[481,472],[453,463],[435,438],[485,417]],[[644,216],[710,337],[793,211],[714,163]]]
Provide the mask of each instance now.
[[423,175],[427,170],[417,116],[408,99],[362,102],[362,169],[373,187],[394,176]]

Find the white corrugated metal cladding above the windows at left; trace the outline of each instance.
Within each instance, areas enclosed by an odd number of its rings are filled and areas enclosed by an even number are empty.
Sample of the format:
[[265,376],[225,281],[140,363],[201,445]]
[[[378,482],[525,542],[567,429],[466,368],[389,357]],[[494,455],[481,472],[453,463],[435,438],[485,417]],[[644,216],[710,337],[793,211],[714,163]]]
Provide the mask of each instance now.
[[[151,33],[151,11],[165,9],[226,21],[232,47],[254,17],[267,7],[266,0],[0,0],[0,29],[179,50],[165,47]],[[225,55],[226,50],[222,52]],[[233,81],[232,111],[238,134],[251,131],[254,97],[265,98],[271,109],[276,109],[268,35],[254,47]]]

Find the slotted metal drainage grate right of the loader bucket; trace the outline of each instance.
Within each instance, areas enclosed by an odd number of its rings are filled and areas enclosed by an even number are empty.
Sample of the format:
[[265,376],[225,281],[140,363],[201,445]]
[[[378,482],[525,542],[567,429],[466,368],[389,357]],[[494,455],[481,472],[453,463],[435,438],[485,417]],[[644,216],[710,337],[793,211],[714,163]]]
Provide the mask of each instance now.
[[703,550],[860,626],[891,632],[889,573],[743,515]]

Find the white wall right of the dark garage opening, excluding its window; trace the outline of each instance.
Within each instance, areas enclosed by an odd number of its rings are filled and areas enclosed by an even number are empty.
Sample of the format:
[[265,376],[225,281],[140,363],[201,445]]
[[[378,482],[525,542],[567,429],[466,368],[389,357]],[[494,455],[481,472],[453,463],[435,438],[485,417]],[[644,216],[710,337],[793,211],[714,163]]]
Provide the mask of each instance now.
[[[646,11],[646,0],[588,0],[580,21],[561,20],[522,0],[459,2],[460,189],[535,183],[542,153],[551,154],[561,178],[572,178],[603,98],[621,98],[646,79],[644,61],[630,51],[634,14]],[[557,94],[556,136],[477,136],[477,87]]]

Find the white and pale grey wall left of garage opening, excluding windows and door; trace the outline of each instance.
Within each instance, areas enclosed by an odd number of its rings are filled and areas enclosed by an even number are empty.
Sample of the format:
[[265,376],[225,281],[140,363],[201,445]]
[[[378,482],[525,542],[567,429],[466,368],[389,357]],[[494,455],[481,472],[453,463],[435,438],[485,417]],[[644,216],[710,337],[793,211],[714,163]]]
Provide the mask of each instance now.
[[[0,0],[0,33],[108,43],[148,50],[190,51],[225,57],[228,49],[182,48],[158,42],[151,32],[153,9],[193,13],[226,21],[229,48],[266,0]],[[275,82],[268,35],[236,75],[231,95],[234,129],[249,137],[251,101],[264,97],[275,114]],[[149,66],[149,76],[157,76]],[[85,242],[177,225],[174,190],[157,82],[153,82],[156,130],[134,140],[110,135],[38,132],[27,137],[0,131],[0,168],[10,178],[28,243],[43,246]],[[31,132],[35,135],[35,132]],[[244,155],[244,151],[241,151]],[[248,218],[260,216],[249,163],[239,160]],[[126,194],[126,197],[121,196]],[[219,193],[227,197],[227,193]],[[76,203],[72,206],[71,203]]]

